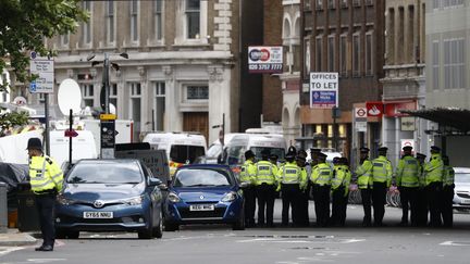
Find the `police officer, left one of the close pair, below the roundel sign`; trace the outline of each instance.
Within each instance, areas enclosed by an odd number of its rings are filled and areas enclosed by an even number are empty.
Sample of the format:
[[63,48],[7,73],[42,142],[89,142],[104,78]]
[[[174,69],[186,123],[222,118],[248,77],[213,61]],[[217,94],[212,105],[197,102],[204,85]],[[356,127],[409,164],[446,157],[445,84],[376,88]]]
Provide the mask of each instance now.
[[364,217],[362,226],[372,225],[372,162],[369,160],[369,149],[360,148],[359,166],[356,168],[357,185],[359,187]]

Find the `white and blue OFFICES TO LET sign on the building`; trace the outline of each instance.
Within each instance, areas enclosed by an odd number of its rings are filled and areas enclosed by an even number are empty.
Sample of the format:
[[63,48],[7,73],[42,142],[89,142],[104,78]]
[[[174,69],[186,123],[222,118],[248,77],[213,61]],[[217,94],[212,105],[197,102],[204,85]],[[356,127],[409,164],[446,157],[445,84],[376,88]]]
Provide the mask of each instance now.
[[338,105],[338,73],[310,73],[310,108]]

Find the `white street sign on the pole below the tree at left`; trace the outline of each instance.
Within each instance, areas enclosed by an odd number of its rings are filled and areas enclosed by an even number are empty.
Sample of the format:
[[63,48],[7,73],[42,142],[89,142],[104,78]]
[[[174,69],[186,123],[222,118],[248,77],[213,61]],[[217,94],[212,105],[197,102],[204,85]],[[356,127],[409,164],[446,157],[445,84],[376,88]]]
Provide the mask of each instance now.
[[54,63],[47,56],[37,56],[32,52],[29,59],[29,71],[38,77],[29,84],[32,93],[53,93],[54,86]]

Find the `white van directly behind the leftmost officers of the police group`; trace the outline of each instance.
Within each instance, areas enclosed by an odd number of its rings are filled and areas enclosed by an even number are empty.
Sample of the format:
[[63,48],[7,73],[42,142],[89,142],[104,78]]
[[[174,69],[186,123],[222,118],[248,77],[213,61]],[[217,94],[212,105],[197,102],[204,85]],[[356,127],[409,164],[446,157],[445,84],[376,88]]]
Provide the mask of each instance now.
[[257,160],[261,160],[261,152],[268,149],[271,154],[276,154],[280,160],[284,160],[287,144],[282,135],[269,134],[240,134],[232,138],[225,148],[224,163],[228,165],[239,165],[245,162],[245,151],[255,152]]

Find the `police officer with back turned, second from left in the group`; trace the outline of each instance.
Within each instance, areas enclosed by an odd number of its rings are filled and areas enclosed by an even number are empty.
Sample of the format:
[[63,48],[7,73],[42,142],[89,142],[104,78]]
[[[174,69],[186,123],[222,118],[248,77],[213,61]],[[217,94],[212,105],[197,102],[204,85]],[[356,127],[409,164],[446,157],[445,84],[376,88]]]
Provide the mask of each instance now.
[[[256,192],[258,198],[258,226],[273,227],[274,198],[277,175],[277,166],[269,161],[270,151],[261,151],[261,161],[256,163]],[[265,216],[265,217],[264,217]],[[265,219],[265,223],[264,223]]]

